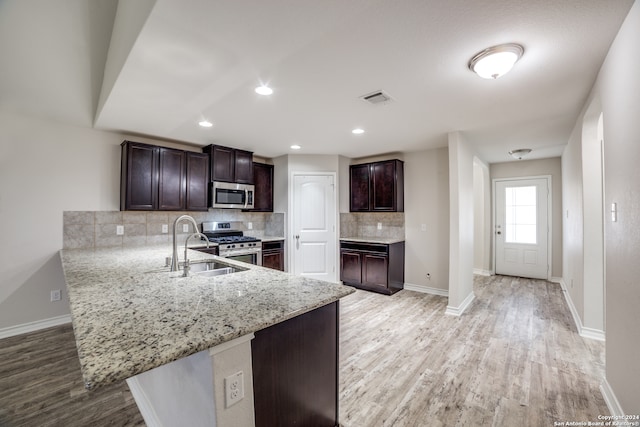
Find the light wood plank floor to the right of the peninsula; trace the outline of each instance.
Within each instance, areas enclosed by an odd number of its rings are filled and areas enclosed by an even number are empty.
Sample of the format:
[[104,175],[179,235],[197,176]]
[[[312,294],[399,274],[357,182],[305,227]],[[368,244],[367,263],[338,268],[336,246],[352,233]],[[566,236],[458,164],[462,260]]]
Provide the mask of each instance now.
[[476,277],[447,299],[358,291],[341,301],[340,419],[360,426],[553,426],[608,414],[604,343],[581,338],[560,285]]

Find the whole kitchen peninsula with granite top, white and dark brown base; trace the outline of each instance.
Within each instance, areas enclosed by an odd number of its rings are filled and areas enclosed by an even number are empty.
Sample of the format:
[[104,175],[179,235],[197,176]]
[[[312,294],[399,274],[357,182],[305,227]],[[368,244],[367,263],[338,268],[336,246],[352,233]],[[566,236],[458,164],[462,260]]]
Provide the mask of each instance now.
[[[182,277],[164,266],[170,254],[166,246],[60,252],[86,387],[127,379],[149,425],[172,416],[190,425],[284,416],[337,425],[338,300],[353,288],[193,250],[192,262],[242,271]],[[229,404],[225,382],[240,372],[245,398]],[[318,385],[332,395],[318,399]],[[272,404],[291,392],[301,403]]]

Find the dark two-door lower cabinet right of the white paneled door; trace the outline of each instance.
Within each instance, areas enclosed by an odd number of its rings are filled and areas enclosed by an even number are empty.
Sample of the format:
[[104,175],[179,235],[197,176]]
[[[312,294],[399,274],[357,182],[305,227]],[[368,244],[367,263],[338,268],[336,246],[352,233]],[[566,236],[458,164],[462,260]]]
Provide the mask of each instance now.
[[404,288],[404,242],[340,242],[340,280],[391,295]]

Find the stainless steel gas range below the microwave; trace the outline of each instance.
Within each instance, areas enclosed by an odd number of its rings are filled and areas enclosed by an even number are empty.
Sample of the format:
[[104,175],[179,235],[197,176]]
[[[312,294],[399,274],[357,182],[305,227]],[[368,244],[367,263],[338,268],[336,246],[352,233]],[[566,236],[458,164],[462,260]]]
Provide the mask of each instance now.
[[231,229],[229,222],[203,222],[202,234],[218,244],[218,255],[249,264],[262,265],[262,242]]

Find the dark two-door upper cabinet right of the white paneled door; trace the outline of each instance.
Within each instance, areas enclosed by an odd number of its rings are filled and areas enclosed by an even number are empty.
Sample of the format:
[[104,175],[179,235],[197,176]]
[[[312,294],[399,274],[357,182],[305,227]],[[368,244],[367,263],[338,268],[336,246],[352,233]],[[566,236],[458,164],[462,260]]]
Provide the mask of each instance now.
[[404,212],[404,162],[351,165],[349,172],[351,212]]

